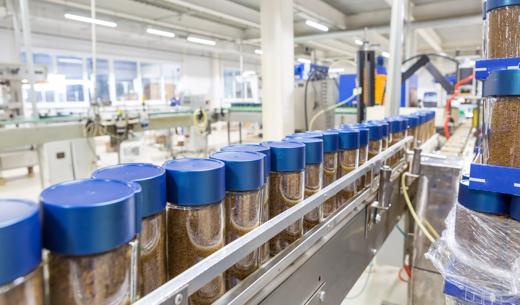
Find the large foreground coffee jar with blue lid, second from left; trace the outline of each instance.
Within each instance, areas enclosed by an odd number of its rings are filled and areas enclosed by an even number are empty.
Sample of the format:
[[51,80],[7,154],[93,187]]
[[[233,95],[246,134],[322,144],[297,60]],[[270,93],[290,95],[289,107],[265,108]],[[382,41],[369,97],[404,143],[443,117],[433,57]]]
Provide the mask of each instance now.
[[49,304],[132,302],[141,217],[135,190],[133,184],[108,179],[76,180],[43,190]]

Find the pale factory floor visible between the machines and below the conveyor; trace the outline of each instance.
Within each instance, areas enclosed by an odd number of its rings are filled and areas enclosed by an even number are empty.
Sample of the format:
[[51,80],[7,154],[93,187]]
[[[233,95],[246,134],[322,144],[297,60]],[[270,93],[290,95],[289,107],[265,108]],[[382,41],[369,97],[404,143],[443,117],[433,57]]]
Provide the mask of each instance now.
[[[255,132],[243,133],[244,142],[260,142]],[[232,142],[238,141],[238,132],[231,133]],[[116,164],[118,156],[114,152],[107,152],[106,139],[96,140],[96,151],[99,155],[98,167]],[[216,150],[227,145],[227,131],[220,129],[214,131],[209,138],[209,149]],[[166,158],[167,153],[154,147],[147,147],[142,150],[143,162],[161,164]],[[189,155],[189,153],[183,153]],[[0,185],[0,197],[20,198],[38,200],[38,195],[42,190],[40,185],[38,167],[34,169],[34,174],[29,176],[27,169],[15,169],[2,172],[5,184]],[[378,264],[378,257],[360,276],[357,283],[349,292],[348,296],[341,305],[406,305],[407,283],[398,277],[399,269],[395,266]]]

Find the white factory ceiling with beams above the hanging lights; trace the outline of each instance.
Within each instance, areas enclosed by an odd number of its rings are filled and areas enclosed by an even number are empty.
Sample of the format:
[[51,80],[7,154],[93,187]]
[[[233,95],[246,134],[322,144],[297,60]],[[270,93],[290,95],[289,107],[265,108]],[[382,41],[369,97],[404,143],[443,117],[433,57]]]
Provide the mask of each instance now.
[[[110,0],[97,1],[99,18],[118,22],[115,31],[119,37],[135,37],[153,26],[173,31],[179,37],[172,43],[189,50],[181,38],[197,34],[219,40],[218,52],[237,53],[238,42],[242,51],[253,54],[258,48],[261,0]],[[352,57],[357,49],[354,40],[367,40],[388,48],[388,26],[392,0],[293,0],[295,6],[294,29],[297,44],[316,49],[323,58]],[[411,22],[421,23],[449,19],[450,26],[442,22],[418,31],[418,52],[458,49],[475,50],[481,45],[481,25],[469,20],[481,14],[481,0],[412,0]],[[73,22],[63,19],[63,13],[89,14],[89,0],[31,0],[31,14],[38,31],[74,35]],[[309,28],[305,19],[314,19],[330,27],[329,33]],[[462,22],[457,22],[461,20]],[[478,21],[478,20],[477,20]],[[41,24],[41,26],[39,26]],[[446,23],[448,24],[448,23]],[[0,23],[8,27],[7,22]],[[119,26],[121,25],[121,26]],[[76,27],[77,28],[77,27]],[[87,27],[85,27],[87,28]],[[364,31],[363,29],[367,29]],[[88,29],[88,28],[87,28]],[[356,31],[361,30],[361,31]],[[104,34],[106,33],[106,34]],[[334,37],[327,36],[333,33]],[[49,33],[50,34],[50,33]],[[363,36],[363,37],[361,37]],[[195,46],[194,46],[195,47]],[[227,50],[227,51],[226,51]],[[200,51],[200,50],[199,50]],[[207,50],[206,50],[207,51]],[[298,55],[298,54],[297,54]]]

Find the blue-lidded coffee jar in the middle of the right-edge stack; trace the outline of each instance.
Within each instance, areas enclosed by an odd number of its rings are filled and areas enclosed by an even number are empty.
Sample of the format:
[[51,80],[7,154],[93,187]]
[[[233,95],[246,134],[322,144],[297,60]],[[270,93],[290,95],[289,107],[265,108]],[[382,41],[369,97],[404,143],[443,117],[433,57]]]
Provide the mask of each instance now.
[[486,121],[483,161],[520,167],[520,71],[492,72],[484,82]]

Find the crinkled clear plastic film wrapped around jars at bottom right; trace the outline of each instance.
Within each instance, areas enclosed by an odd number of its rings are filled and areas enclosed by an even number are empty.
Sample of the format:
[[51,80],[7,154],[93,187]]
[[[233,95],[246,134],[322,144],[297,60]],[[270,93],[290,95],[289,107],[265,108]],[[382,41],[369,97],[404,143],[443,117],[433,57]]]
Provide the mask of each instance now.
[[[457,204],[426,257],[446,280],[446,294],[462,301],[520,304],[520,222]],[[457,302],[452,304],[474,304]]]

